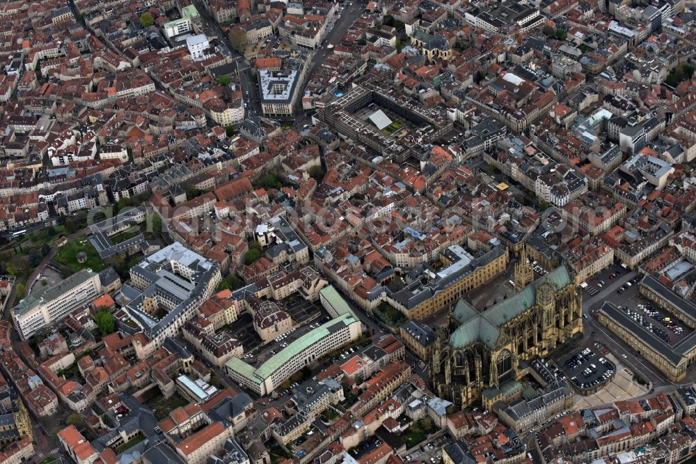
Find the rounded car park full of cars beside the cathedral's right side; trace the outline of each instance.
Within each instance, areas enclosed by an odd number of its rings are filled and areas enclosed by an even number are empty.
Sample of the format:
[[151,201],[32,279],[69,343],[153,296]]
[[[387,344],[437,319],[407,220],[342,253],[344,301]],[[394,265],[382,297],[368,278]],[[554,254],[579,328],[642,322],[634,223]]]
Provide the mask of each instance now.
[[557,363],[571,384],[580,390],[602,388],[612,378],[616,366],[604,355],[608,350],[599,343],[562,357]]

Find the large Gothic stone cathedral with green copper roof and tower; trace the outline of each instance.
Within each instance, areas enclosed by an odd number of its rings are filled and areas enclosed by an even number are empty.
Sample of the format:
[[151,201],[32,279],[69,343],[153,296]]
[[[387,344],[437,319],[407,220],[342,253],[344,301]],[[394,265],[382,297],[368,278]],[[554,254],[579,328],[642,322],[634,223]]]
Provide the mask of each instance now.
[[430,377],[438,396],[458,407],[515,399],[526,363],[546,356],[583,330],[582,295],[561,265],[526,286],[533,270],[525,253],[515,272],[512,297],[479,312],[459,300],[450,323],[439,330],[430,359]]

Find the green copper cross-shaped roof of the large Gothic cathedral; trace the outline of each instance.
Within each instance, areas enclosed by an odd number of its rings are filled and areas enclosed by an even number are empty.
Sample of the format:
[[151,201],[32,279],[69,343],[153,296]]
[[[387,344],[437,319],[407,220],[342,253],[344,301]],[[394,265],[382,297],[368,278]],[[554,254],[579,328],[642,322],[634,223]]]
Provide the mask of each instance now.
[[478,313],[468,302],[460,300],[452,316],[461,326],[450,336],[450,346],[464,348],[475,341],[482,341],[493,348],[498,341],[500,327],[534,306],[537,300],[537,286],[544,283],[551,284],[555,291],[560,291],[571,283],[571,277],[567,268],[561,265],[482,313]]

